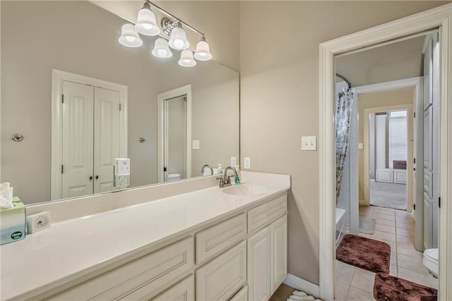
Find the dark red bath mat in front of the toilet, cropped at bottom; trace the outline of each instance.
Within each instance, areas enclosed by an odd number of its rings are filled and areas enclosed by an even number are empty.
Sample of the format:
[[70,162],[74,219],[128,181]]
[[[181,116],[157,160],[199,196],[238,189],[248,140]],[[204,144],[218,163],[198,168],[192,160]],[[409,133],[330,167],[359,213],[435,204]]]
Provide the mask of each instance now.
[[436,301],[438,290],[379,273],[375,275],[374,297],[377,301]]

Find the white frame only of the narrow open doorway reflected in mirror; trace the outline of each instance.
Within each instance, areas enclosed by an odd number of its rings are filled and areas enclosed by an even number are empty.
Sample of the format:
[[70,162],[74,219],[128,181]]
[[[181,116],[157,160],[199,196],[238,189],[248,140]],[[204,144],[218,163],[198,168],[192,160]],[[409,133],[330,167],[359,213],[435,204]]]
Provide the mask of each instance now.
[[165,105],[164,102],[167,99],[186,96],[186,178],[191,178],[191,85],[185,85],[178,87],[167,92],[158,94],[157,106],[158,106],[158,121],[157,121],[157,168],[158,168],[158,183],[165,181],[165,172],[163,171],[164,159],[165,159]]

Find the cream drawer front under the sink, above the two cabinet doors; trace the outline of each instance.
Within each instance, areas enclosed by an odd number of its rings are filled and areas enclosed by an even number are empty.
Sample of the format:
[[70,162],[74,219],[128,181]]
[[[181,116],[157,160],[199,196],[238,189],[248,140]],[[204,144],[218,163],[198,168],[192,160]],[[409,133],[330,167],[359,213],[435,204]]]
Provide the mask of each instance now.
[[268,225],[287,212],[287,195],[281,195],[270,202],[248,211],[248,233]]

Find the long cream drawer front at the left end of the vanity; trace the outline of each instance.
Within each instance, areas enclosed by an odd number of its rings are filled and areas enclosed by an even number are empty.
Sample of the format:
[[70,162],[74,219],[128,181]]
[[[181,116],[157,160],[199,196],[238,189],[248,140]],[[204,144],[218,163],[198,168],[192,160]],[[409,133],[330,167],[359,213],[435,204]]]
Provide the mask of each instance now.
[[193,236],[119,266],[50,300],[115,300],[145,286],[157,290],[194,266]]

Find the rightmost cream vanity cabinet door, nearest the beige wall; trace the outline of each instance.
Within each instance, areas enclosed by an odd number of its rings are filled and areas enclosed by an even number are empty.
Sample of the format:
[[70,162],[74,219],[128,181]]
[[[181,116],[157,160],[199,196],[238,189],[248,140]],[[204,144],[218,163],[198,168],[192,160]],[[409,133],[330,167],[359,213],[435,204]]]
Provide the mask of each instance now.
[[271,230],[271,293],[287,277],[287,214],[270,226]]

